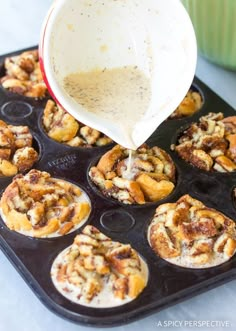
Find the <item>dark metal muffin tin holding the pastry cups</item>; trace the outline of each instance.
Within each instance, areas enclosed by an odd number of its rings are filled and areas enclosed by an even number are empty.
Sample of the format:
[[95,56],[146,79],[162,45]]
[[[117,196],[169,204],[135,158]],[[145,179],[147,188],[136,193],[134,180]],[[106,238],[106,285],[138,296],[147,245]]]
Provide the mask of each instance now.
[[[13,56],[21,51],[8,54]],[[2,64],[5,56],[0,57]],[[4,74],[0,67],[1,76]],[[164,202],[175,202],[183,194],[190,194],[207,206],[216,208],[236,220],[233,188],[236,173],[206,173],[185,163],[170,150],[181,131],[190,123],[209,112],[235,111],[197,78],[192,87],[202,94],[204,103],[195,115],[163,122],[148,139],[150,146],[157,145],[172,157],[177,171],[174,192],[166,199],[145,205],[122,205],[108,200],[94,187],[88,169],[104,152],[112,147],[73,148],[51,140],[44,133],[41,118],[46,99],[34,100],[13,94],[0,87],[0,118],[14,125],[28,125],[38,146],[40,159],[34,168],[48,171],[52,176],[78,184],[91,199],[92,212],[86,224],[96,226],[113,240],[130,243],[146,261],[149,268],[147,287],[134,301],[115,308],[95,309],[80,306],[64,298],[50,278],[53,260],[64,248],[72,244],[80,230],[64,237],[35,239],[10,231],[0,220],[0,246],[16,270],[38,298],[54,313],[70,321],[94,326],[115,326],[160,311],[186,298],[226,283],[236,276],[236,256],[228,262],[209,269],[188,269],[174,266],[152,251],[147,242],[147,228],[155,208]],[[0,178],[1,192],[12,178]],[[6,280],[7,281],[7,280]]]

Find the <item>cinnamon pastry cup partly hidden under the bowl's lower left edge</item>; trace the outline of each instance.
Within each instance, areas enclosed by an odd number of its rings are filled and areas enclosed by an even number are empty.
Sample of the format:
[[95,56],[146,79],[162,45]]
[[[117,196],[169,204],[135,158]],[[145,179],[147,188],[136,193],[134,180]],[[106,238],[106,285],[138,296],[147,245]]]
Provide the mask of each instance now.
[[103,133],[78,122],[52,100],[48,100],[43,113],[43,126],[53,140],[73,147],[92,147],[110,144]]

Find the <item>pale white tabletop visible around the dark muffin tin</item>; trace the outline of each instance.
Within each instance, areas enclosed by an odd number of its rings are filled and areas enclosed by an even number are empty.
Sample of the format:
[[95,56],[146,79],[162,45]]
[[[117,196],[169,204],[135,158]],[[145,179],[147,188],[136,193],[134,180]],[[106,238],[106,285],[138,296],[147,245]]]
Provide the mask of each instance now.
[[[41,22],[50,3],[49,0],[0,0],[0,53],[36,44]],[[197,75],[236,108],[235,72],[225,71],[199,58]],[[228,322],[230,326],[197,329],[235,330],[235,292],[236,281],[232,281],[158,314],[113,330],[180,330],[180,327],[164,327],[164,321],[176,321],[176,323],[221,321]],[[163,327],[160,326],[160,321]],[[0,252],[0,331],[51,330],[90,331],[95,329],[74,325],[48,311]],[[182,330],[195,330],[195,328],[186,327]]]

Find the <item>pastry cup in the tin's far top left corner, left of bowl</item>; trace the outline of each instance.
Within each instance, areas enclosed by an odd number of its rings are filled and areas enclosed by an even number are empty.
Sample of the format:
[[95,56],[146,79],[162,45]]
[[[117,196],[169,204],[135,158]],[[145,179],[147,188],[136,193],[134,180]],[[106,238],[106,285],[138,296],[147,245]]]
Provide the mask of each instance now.
[[46,96],[47,87],[39,67],[37,50],[7,57],[4,66],[6,75],[1,78],[1,84],[5,89],[32,98]]

